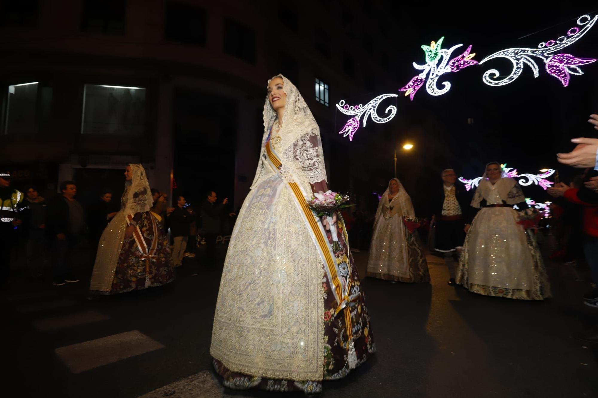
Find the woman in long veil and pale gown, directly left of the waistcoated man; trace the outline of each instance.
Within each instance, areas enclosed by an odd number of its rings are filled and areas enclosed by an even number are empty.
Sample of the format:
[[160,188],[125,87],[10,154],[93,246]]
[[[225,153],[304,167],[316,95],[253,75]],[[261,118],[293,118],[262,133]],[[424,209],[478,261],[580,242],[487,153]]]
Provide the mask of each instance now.
[[367,276],[393,282],[430,281],[417,230],[409,232],[404,217],[415,219],[415,211],[407,191],[393,178],[376,211]]

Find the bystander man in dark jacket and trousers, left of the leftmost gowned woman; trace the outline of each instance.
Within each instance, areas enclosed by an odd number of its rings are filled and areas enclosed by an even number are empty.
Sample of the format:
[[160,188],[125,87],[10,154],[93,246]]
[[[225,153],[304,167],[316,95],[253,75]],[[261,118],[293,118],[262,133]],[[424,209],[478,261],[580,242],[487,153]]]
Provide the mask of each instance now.
[[54,243],[54,286],[79,281],[74,275],[72,254],[86,229],[83,206],[75,199],[75,182],[62,182],[60,192],[62,195],[48,206],[46,225],[48,239]]

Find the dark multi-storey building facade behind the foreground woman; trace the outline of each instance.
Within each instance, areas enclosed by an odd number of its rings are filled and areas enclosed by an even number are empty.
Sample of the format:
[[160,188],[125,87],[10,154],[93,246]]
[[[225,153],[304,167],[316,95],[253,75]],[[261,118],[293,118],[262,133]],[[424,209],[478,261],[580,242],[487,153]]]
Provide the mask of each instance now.
[[[333,2],[22,0],[0,16],[0,166],[81,195],[143,163],[158,189],[242,203],[255,173],[266,80],[285,74],[316,117],[329,178],[350,188],[335,103],[395,87],[384,16]],[[316,89],[315,89],[316,88]],[[379,93],[378,93],[379,94]],[[371,95],[370,95],[371,97]],[[389,138],[388,131],[386,132]],[[389,157],[389,167],[392,167]],[[116,193],[116,192],[115,192]]]

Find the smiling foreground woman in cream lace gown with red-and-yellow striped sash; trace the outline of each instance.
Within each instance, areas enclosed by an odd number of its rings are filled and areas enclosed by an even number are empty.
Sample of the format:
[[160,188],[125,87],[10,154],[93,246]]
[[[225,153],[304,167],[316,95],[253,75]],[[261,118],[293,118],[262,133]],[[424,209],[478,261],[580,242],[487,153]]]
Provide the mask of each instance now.
[[334,250],[306,205],[326,189],[318,124],[297,88],[275,76],[216,303],[210,354],[226,387],[315,393],[374,352],[343,220]]

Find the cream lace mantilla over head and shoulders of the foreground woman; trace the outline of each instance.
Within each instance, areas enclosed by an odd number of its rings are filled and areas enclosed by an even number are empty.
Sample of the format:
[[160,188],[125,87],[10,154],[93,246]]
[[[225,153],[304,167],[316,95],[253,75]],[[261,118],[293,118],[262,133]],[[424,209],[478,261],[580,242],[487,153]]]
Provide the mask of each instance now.
[[[285,112],[282,118],[282,128],[279,131],[280,143],[276,145],[276,152],[281,157],[282,169],[280,174],[285,182],[296,182],[304,189],[305,194],[311,197],[310,184],[322,180],[328,182],[324,166],[324,152],[320,128],[313,118],[307,103],[285,76],[276,75],[274,78],[283,79],[283,91],[286,94]],[[270,83],[271,79],[268,81]],[[277,118],[277,114],[270,105],[266,96],[264,104],[264,136],[261,145],[261,154],[265,152],[265,145],[270,129]],[[269,167],[260,156],[257,172],[251,188],[254,188],[262,177],[268,173],[264,169]]]

